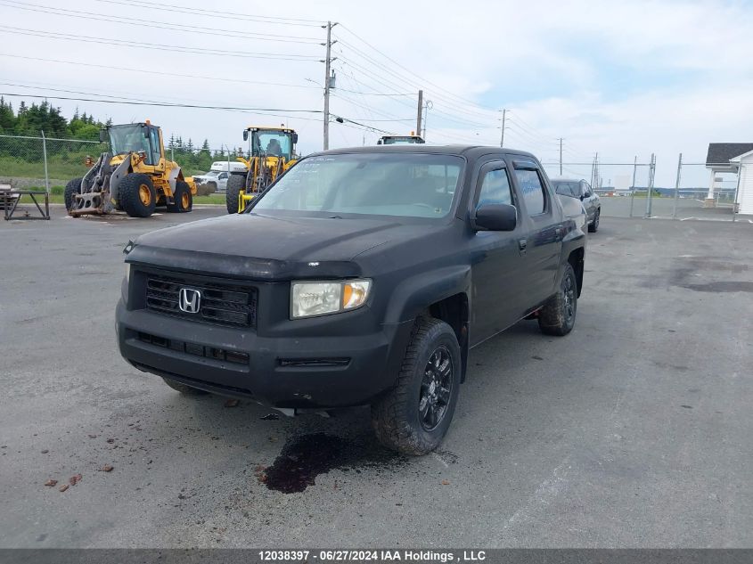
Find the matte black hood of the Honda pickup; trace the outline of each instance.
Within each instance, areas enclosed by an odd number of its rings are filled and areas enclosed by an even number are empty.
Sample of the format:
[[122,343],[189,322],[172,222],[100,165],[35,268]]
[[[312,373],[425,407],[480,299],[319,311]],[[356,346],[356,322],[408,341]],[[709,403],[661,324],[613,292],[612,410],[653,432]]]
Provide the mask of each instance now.
[[392,218],[233,214],[142,235],[127,262],[253,280],[353,277],[364,275],[358,255],[438,228]]

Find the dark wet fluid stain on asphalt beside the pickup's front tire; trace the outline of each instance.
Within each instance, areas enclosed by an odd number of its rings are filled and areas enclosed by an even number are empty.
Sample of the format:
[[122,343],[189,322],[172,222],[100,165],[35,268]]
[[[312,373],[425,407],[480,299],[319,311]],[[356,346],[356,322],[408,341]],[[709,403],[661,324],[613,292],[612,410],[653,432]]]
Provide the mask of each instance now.
[[316,477],[330,470],[391,470],[405,461],[405,457],[373,441],[314,433],[291,437],[258,479],[269,489],[294,494],[314,486]]

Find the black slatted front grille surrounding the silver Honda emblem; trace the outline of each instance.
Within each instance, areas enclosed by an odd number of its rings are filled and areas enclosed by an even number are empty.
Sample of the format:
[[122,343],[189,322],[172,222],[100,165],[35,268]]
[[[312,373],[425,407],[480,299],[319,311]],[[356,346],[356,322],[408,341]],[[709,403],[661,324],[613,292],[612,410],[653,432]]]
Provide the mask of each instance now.
[[[201,291],[201,307],[198,313],[190,314],[180,310],[178,300],[181,288]],[[257,290],[234,284],[147,274],[146,308],[192,321],[253,328],[257,324]]]

